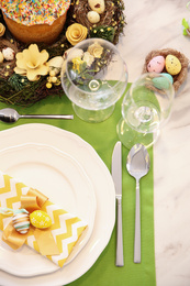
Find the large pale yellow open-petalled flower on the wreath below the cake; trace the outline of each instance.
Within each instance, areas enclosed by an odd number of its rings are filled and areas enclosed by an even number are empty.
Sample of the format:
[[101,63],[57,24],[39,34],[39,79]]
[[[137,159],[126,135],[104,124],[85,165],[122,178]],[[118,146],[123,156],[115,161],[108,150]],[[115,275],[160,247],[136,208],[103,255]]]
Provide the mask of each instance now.
[[23,52],[18,53],[16,56],[16,67],[14,72],[16,74],[25,75],[29,80],[35,81],[41,76],[48,74],[48,59],[47,51],[38,51],[36,44],[31,44],[29,48],[25,48]]

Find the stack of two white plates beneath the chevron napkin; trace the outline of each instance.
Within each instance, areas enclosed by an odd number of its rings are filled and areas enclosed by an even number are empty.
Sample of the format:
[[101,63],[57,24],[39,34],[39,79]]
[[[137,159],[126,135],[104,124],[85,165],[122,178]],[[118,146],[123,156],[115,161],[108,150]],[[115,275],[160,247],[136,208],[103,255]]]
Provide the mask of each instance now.
[[[115,191],[109,169],[78,135],[46,124],[0,133],[0,169],[37,188],[51,201],[88,222],[63,268],[24,245],[0,240],[0,284],[53,286],[83,275],[107,246],[115,222]],[[2,233],[1,233],[2,234]]]

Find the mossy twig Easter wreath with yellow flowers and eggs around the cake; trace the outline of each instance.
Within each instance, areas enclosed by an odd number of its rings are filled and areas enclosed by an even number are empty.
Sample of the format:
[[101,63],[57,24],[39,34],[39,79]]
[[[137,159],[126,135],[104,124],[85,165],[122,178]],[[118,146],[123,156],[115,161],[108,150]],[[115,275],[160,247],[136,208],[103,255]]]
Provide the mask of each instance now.
[[[101,1],[101,11],[96,1]],[[82,11],[82,12],[81,12]],[[15,41],[0,14],[0,101],[8,105],[31,106],[47,96],[63,96],[60,69],[67,51],[90,37],[101,37],[116,44],[125,22],[123,1],[72,0],[65,28],[52,45],[26,45]],[[76,72],[87,76],[98,58],[105,56],[92,47],[74,59]],[[109,58],[108,54],[105,56]],[[99,66],[99,68],[101,65]],[[77,79],[80,81],[80,77]]]

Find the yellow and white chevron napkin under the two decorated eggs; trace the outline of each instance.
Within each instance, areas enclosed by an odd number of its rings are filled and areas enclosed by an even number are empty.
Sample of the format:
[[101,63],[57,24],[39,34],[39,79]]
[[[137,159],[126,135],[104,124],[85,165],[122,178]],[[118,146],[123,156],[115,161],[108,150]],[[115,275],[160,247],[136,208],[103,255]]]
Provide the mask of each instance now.
[[[70,252],[72,251],[82,231],[87,228],[87,223],[80,220],[78,217],[68,213],[55,204],[51,202],[48,198],[46,198],[38,190],[34,190],[24,185],[23,183],[18,182],[9,175],[0,172],[1,209],[20,209],[22,197],[26,197],[27,195],[32,195],[33,197],[35,196],[35,191],[37,194],[36,198],[38,201],[41,195],[42,200],[45,198],[43,202],[40,201],[40,209],[42,211],[45,211],[51,217],[52,226],[48,228],[47,232],[46,230],[41,231],[31,226],[26,235],[18,233],[18,231],[15,231],[15,229],[12,227],[13,235],[18,235],[21,239],[24,239],[23,243],[27,244],[41,254],[45,255],[52,262],[56,263],[59,267],[62,267],[66,262],[67,257],[69,256]],[[10,222],[10,218],[0,213],[0,230],[5,232],[7,228],[11,226],[12,220]],[[9,234],[9,231],[7,232]],[[49,241],[53,241],[53,246],[49,246]],[[11,243],[8,244],[11,246]],[[41,251],[41,246],[43,251]],[[49,251],[51,248],[52,250]],[[48,251],[53,254],[48,255]]]

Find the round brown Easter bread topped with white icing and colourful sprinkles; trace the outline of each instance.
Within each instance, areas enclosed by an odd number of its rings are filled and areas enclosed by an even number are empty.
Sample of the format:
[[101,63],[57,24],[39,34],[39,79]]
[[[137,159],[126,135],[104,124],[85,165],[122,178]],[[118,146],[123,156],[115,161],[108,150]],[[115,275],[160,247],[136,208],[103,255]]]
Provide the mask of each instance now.
[[12,35],[23,43],[55,42],[63,31],[69,0],[0,0]]

